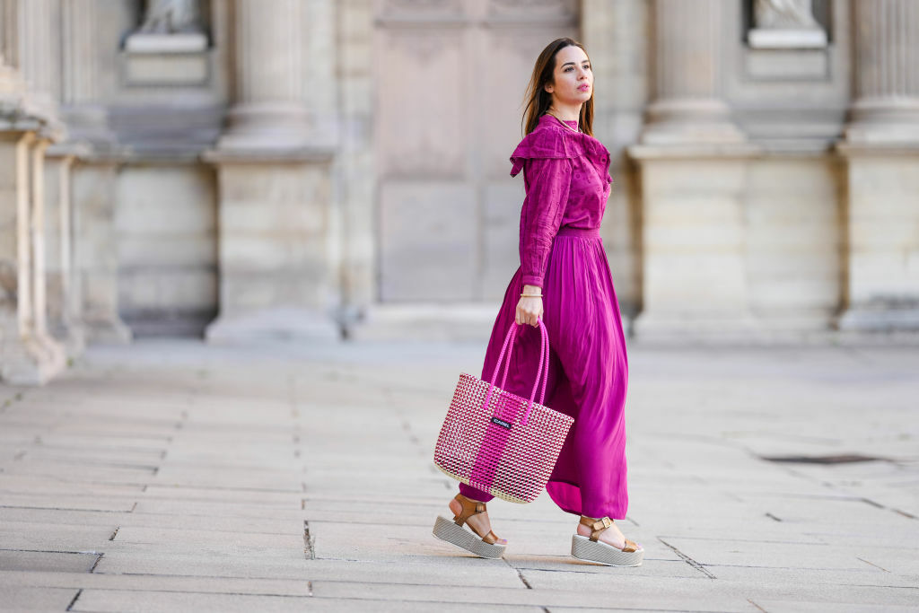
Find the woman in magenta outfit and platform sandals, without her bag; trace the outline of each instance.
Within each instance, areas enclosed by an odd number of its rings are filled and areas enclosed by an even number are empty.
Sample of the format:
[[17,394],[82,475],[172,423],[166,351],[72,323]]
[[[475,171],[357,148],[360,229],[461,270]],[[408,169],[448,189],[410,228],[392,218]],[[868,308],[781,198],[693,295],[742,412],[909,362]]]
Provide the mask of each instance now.
[[[546,487],[562,510],[579,515],[572,554],[617,566],[641,564],[644,550],[610,518],[626,517],[625,420],[629,377],[625,337],[607,255],[599,237],[612,178],[609,152],[593,136],[594,74],[581,43],[550,42],[528,87],[526,136],[511,155],[524,171],[520,267],[494,322],[482,379],[492,375],[505,333],[517,335],[506,389],[528,396],[539,361],[539,318],[551,355],[546,405],[574,418]],[[516,303],[516,306],[515,306]],[[513,318],[513,319],[512,319]],[[533,326],[533,327],[529,327]],[[500,557],[485,503],[491,494],[460,484],[450,501],[454,526],[436,535],[482,557]]]

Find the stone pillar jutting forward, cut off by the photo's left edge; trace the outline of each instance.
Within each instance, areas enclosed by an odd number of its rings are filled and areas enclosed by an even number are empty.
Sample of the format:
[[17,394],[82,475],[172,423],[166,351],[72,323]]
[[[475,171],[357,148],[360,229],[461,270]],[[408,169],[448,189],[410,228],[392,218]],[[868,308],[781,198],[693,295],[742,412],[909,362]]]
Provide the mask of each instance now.
[[65,366],[45,313],[44,157],[60,137],[55,8],[0,2],[0,379],[23,385]]

